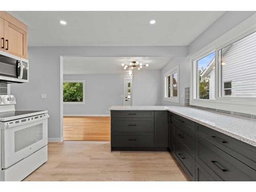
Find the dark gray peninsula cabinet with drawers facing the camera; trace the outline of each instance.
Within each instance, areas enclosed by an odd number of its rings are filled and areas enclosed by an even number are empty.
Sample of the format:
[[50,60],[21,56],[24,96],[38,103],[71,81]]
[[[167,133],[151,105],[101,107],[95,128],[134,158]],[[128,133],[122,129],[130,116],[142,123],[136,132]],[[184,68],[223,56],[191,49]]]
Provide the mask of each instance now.
[[167,111],[112,111],[111,150],[167,151]]

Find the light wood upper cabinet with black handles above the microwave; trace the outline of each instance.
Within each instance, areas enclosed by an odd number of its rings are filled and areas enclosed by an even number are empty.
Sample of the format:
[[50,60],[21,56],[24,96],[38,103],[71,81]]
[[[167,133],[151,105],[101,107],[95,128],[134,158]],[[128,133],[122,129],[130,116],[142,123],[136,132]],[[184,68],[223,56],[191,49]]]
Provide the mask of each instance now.
[[27,59],[27,30],[20,20],[8,12],[0,11],[0,50]]

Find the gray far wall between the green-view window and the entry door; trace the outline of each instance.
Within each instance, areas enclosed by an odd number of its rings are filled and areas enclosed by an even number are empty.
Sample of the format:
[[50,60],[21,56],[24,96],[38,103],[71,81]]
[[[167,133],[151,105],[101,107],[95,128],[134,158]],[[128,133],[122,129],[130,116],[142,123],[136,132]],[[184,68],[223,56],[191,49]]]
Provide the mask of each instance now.
[[64,104],[63,114],[108,115],[113,105],[123,105],[123,79],[129,74],[64,75],[63,80],[85,80],[85,104]]

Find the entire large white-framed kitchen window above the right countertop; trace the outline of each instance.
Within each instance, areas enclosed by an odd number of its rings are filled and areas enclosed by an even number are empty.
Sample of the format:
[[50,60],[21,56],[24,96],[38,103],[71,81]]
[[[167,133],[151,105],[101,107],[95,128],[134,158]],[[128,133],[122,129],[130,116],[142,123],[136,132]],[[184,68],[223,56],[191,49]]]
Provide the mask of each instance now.
[[255,113],[256,27],[235,28],[191,56],[190,105]]

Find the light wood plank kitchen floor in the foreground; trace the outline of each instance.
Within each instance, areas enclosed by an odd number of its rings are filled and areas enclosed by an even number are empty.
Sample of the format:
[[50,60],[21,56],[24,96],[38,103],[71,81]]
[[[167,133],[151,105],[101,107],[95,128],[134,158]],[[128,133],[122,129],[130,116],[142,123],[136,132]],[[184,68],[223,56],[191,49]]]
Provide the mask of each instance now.
[[110,152],[110,142],[49,143],[48,161],[25,181],[187,181],[168,152]]

